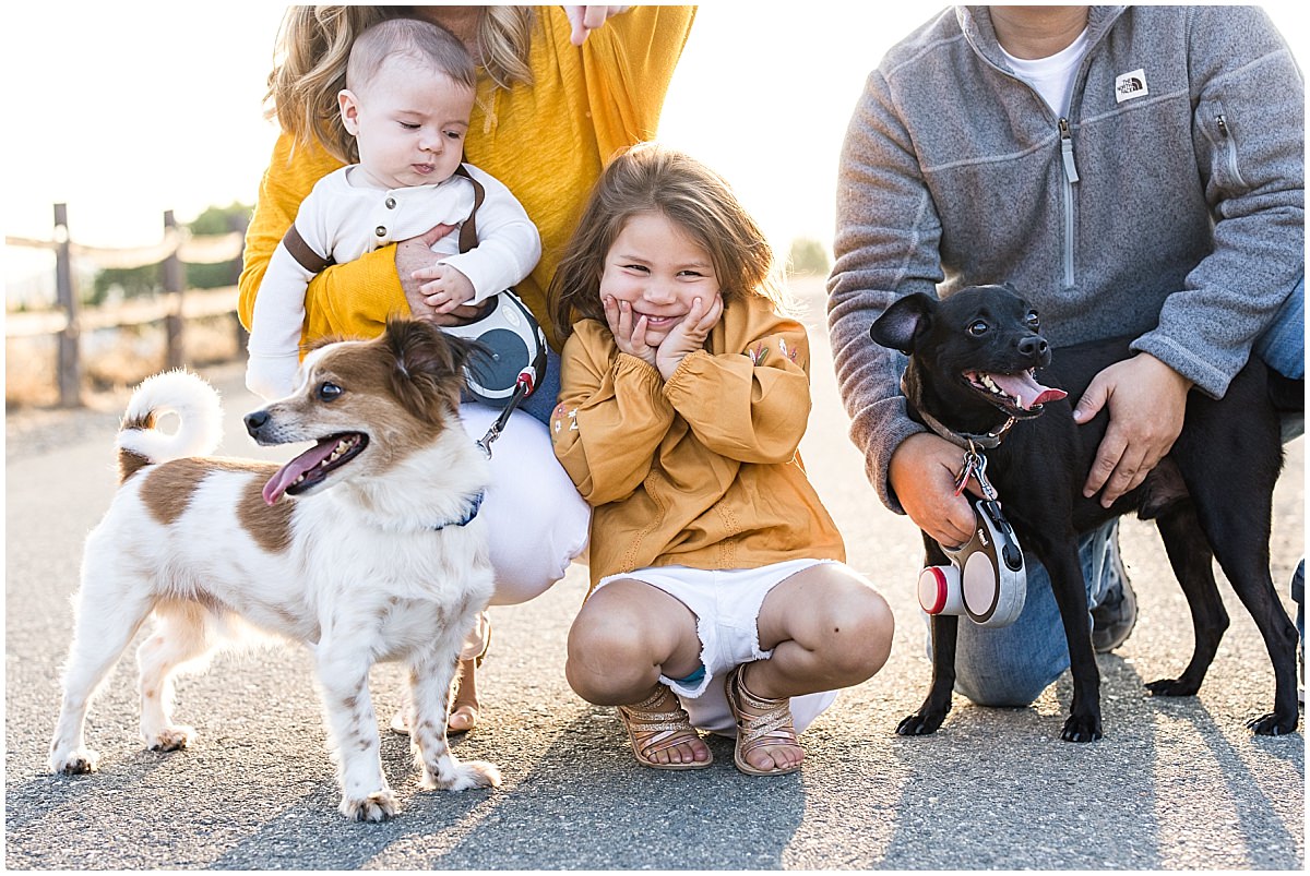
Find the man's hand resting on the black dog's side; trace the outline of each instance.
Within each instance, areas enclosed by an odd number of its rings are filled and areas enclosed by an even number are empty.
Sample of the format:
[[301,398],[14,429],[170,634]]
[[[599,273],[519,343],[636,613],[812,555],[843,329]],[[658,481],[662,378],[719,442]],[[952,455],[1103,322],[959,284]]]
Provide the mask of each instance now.
[[1082,494],[1100,494],[1112,505],[1137,487],[1169,453],[1183,431],[1187,393],[1192,381],[1155,359],[1137,354],[1096,374],[1073,410],[1076,423],[1086,423],[1110,405],[1110,427],[1096,448]]

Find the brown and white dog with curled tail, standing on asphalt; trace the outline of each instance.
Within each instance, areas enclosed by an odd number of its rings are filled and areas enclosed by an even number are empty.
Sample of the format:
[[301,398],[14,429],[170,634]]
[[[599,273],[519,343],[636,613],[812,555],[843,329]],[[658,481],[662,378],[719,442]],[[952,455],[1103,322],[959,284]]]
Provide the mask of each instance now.
[[[96,769],[90,698],[153,613],[138,649],[153,750],[186,748],[195,732],[170,719],[174,670],[253,626],[314,653],[346,817],[398,811],[368,693],[379,660],[409,669],[423,787],[500,783],[493,763],[458,762],[445,739],[460,648],[493,588],[477,513],[489,464],[457,415],[470,348],[392,321],[373,340],[312,351],[297,390],[245,418],[259,444],[316,443],[280,469],[204,456],[221,412],[195,374],[141,384],[118,436],[121,487],[86,539],[52,771]],[[173,435],[156,426],[166,412],[181,420]]]

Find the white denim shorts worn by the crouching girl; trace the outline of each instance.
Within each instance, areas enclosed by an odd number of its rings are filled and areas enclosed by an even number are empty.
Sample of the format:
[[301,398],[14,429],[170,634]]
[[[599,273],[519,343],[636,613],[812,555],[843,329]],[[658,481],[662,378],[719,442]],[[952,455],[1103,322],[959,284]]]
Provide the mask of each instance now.
[[[705,676],[693,687],[676,678],[660,676],[660,682],[677,694],[694,727],[736,735],[736,721],[723,693],[723,678],[734,668],[753,660],[768,660],[773,651],[760,648],[760,609],[774,587],[831,559],[793,559],[758,568],[703,570],[685,566],[660,566],[621,572],[600,579],[595,593],[610,581],[642,581],[664,591],[696,615],[696,634],[701,640],[701,665]],[[714,682],[714,680],[718,680]],[[711,684],[714,682],[714,684]],[[802,732],[837,699],[837,691],[825,690],[791,698],[791,718]]]

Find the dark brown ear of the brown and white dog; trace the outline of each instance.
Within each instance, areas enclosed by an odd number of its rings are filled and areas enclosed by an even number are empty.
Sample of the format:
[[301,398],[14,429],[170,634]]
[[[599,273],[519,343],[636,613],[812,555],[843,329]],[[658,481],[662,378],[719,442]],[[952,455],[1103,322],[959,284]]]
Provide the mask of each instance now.
[[460,409],[473,342],[431,322],[398,317],[386,321],[385,338],[394,361],[392,392],[409,412],[436,424]]

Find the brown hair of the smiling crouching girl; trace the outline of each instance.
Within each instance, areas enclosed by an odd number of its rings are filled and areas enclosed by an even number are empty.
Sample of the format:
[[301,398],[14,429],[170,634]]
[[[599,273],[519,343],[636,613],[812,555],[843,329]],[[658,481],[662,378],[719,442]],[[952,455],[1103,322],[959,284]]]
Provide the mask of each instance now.
[[550,282],[550,318],[557,337],[578,319],[605,322],[600,278],[624,225],[639,213],[660,213],[709,255],[724,305],[751,295],[790,309],[774,275],[773,249],[728,183],[690,156],[655,143],[638,144],[601,172]]

